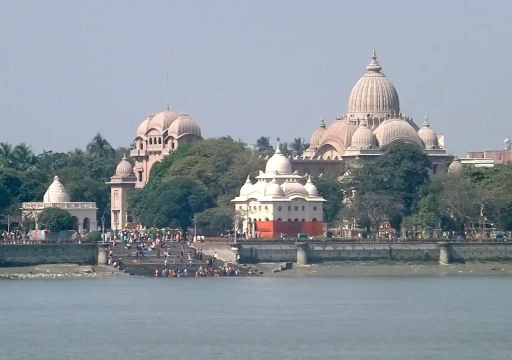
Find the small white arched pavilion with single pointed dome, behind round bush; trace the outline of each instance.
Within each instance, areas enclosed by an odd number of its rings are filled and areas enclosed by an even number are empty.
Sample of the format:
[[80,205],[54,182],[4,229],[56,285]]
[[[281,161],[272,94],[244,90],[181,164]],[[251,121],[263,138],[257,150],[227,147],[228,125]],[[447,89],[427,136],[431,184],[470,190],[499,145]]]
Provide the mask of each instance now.
[[96,203],[71,202],[70,196],[60,183],[58,176],[53,178],[53,183],[43,196],[42,203],[22,204],[22,223],[28,224],[26,230],[38,230],[39,214],[46,208],[60,208],[68,211],[73,220],[73,229],[80,234],[98,229]]

